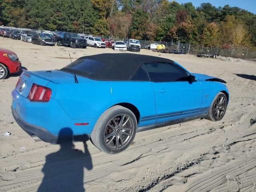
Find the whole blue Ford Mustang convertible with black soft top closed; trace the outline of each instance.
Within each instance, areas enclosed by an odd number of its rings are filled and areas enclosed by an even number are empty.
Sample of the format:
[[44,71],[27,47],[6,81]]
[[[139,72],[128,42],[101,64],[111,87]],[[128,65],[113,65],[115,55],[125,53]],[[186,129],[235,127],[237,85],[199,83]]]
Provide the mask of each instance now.
[[73,140],[86,136],[115,154],[141,130],[221,120],[229,100],[225,83],[160,57],[84,56],[60,70],[24,70],[12,91],[12,114],[34,138],[58,143],[61,130],[69,128]]

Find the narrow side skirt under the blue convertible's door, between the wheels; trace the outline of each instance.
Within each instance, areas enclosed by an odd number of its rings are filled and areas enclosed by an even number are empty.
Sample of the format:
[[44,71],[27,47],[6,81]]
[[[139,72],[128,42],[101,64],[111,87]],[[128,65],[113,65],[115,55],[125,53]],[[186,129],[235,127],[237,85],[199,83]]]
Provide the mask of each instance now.
[[154,125],[142,126],[142,127],[138,127],[137,132],[146,131],[146,130],[159,128],[159,127],[164,127],[164,126],[170,126],[170,125],[183,123],[183,122],[188,122],[188,121],[191,121],[191,120],[201,119],[201,118],[205,118],[205,117],[206,117],[206,114],[200,115],[200,116],[195,116],[195,117],[188,117],[188,118],[183,118],[183,119],[171,120],[171,121],[168,121],[168,122],[157,123],[157,124],[154,124]]

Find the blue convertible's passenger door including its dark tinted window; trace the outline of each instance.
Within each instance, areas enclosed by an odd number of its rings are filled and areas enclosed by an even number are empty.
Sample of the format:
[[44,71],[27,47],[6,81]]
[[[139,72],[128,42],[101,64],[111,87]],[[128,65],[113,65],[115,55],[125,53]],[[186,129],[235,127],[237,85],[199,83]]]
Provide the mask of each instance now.
[[203,89],[189,81],[190,74],[174,63],[148,63],[146,70],[155,93],[157,124],[202,113]]

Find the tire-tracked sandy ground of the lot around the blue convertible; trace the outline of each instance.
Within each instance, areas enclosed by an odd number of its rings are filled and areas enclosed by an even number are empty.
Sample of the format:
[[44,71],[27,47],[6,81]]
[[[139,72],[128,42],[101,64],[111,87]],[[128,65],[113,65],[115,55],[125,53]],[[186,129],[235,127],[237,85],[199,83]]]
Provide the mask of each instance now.
[[[0,38],[28,70],[59,69],[85,55],[114,50],[33,45]],[[136,53],[134,53],[136,54]],[[142,50],[170,58],[190,72],[227,81],[230,103],[220,122],[194,120],[139,132],[126,151],[109,155],[89,141],[74,148],[34,142],[14,122],[11,91],[18,76],[0,80],[0,191],[256,191],[256,63],[196,58]],[[43,116],[43,114],[42,114]],[[60,182],[63,181],[64,182]],[[42,182],[43,181],[43,182]]]

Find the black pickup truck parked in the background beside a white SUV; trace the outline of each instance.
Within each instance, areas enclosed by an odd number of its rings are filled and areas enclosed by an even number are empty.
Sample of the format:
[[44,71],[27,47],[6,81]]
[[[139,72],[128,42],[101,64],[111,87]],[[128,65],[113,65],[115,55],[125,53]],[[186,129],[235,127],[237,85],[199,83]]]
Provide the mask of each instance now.
[[71,48],[76,48],[77,46],[86,48],[87,46],[87,40],[76,33],[64,33],[63,37],[56,36],[56,42],[58,46],[66,45],[71,46]]

